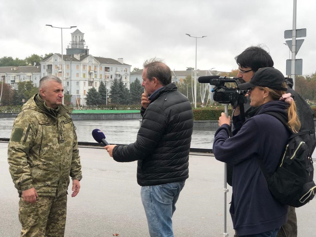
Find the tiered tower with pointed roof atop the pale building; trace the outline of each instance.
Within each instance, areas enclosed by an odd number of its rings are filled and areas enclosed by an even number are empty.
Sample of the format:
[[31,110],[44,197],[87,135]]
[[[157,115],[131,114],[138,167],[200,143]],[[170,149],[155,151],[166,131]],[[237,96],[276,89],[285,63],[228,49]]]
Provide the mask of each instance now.
[[69,46],[66,49],[66,54],[88,55],[89,49],[88,46],[85,46],[85,44],[86,42],[84,41],[84,33],[76,29],[73,33],[71,33],[71,40]]

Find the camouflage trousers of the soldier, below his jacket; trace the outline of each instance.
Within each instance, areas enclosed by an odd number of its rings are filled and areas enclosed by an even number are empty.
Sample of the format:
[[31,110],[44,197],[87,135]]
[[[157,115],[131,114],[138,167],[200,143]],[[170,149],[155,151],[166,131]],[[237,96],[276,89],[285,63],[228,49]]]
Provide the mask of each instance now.
[[19,201],[21,237],[63,237],[66,224],[67,194],[37,198],[30,204]]

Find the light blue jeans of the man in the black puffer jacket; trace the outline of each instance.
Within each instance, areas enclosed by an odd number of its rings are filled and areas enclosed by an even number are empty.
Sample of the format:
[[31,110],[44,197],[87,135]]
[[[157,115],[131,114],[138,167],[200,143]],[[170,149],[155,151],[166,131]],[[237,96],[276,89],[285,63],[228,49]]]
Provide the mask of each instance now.
[[172,215],[185,181],[142,186],[141,197],[150,237],[173,237]]

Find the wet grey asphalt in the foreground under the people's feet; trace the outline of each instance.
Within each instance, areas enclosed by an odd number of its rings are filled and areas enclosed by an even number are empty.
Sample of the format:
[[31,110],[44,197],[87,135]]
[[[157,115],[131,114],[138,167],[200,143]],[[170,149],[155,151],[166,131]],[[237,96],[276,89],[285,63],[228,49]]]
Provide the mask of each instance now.
[[[8,171],[7,145],[0,143],[0,236],[16,237],[21,228],[19,198]],[[68,198],[65,237],[149,236],[136,182],[137,163],[115,162],[104,149],[80,148],[80,155],[81,190],[77,197]],[[224,165],[200,153],[190,155],[189,168],[190,177],[173,215],[174,236],[223,236]],[[231,190],[227,203],[230,196]],[[298,208],[297,218],[298,236],[315,236],[316,200]],[[227,232],[234,235],[229,213]]]

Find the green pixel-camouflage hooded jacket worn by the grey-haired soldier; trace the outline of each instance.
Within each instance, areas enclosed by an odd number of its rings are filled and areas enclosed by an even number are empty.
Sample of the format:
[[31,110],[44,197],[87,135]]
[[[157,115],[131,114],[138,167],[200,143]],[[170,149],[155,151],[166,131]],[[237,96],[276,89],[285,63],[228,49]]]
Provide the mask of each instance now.
[[8,146],[9,171],[18,192],[34,187],[39,195],[64,194],[82,179],[75,127],[61,105],[48,108],[35,94],[15,118]]

